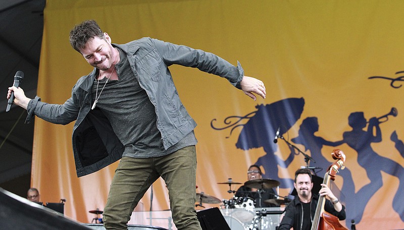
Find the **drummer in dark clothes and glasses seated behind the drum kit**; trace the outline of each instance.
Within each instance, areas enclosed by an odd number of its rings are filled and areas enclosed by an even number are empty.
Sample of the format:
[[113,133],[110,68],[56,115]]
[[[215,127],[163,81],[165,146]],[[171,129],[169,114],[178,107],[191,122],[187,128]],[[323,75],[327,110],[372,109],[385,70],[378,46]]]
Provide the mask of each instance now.
[[[253,164],[248,167],[248,171],[247,171],[248,181],[261,179],[261,178],[262,178],[262,171],[258,165]],[[248,188],[245,185],[243,185],[237,190],[235,196],[236,197],[249,197],[249,198],[253,199],[256,208],[275,206],[273,204],[264,203],[265,200],[276,198],[276,196],[275,196],[276,193],[273,188],[262,189],[260,192],[261,192],[261,199],[260,199],[260,194],[258,193],[258,189]]]

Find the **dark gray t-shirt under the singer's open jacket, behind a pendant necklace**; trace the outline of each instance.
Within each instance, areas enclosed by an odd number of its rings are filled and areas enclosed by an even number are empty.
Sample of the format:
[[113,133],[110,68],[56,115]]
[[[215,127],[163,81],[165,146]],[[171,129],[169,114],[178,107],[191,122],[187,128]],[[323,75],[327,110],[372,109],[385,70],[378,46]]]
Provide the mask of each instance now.
[[[148,158],[170,154],[180,148],[195,145],[193,133],[186,135],[177,144],[165,150],[161,133],[157,128],[155,106],[142,89],[133,74],[126,53],[117,47],[120,62],[115,66],[119,80],[107,78],[98,83],[98,96],[101,95],[94,109],[101,109],[110,121],[115,134],[125,146],[123,156]],[[97,75],[96,75],[97,76]],[[97,80],[92,86],[92,103],[95,100]]]

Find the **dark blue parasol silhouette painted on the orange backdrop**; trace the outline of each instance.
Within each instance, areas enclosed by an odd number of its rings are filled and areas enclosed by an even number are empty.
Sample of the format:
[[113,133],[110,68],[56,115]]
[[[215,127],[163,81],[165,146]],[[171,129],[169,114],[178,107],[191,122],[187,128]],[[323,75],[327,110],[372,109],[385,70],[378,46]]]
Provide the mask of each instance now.
[[268,142],[273,143],[278,128],[279,135],[286,133],[300,118],[304,106],[305,99],[302,97],[257,105],[258,110],[254,116],[243,125],[236,147],[247,150],[268,146]]

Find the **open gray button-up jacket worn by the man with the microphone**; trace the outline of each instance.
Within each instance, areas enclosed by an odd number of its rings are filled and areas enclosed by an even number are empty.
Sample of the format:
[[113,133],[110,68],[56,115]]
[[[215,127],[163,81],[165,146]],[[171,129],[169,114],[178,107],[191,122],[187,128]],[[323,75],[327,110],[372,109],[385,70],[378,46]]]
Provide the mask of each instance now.
[[[215,54],[151,38],[113,45],[126,52],[135,77],[155,106],[157,127],[165,149],[196,127],[179,99],[169,66],[178,64],[198,68],[224,77],[241,89],[243,70],[240,64],[237,63],[235,67]],[[72,89],[72,96],[64,104],[44,103],[36,96],[30,100],[27,108],[26,123],[34,114],[55,124],[66,125],[76,121],[72,144],[78,177],[117,161],[125,148],[103,112],[99,109],[91,110],[91,87],[95,74],[94,68],[89,75],[81,77]]]

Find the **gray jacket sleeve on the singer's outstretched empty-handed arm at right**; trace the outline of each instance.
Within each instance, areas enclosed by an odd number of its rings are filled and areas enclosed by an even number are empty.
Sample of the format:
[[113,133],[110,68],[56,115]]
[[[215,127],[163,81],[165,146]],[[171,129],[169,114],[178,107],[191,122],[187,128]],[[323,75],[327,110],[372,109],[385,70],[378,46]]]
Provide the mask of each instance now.
[[167,66],[177,64],[198,68],[201,71],[226,78],[233,86],[241,89],[240,83],[244,76],[244,70],[239,62],[235,67],[221,57],[200,49],[193,49],[185,45],[176,45],[157,39],[151,39],[151,42],[153,42],[157,52]]

